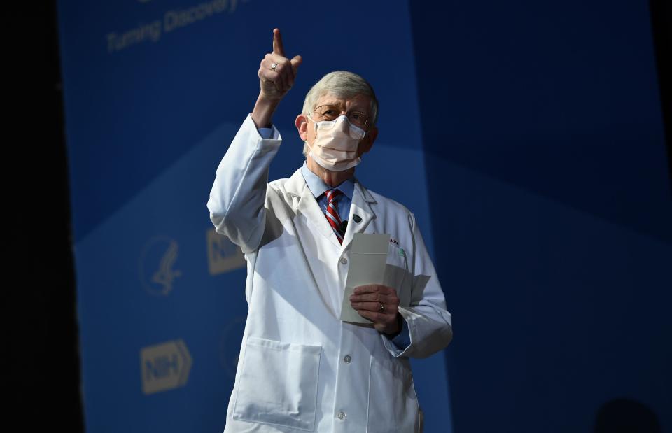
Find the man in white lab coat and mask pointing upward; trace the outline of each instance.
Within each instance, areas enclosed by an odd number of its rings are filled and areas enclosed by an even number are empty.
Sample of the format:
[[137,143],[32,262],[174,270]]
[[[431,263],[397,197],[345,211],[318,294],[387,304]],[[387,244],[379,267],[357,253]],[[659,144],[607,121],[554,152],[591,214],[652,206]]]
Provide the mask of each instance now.
[[[377,136],[378,103],[363,78],[337,71],[310,90],[295,122],[306,162],[268,183],[281,143],[272,114],[301,62],[285,57],[274,29],[258,100],[208,201],[217,232],[248,262],[225,432],[419,432],[408,357],[447,346],[451,316],[414,215],[354,178]],[[349,299],[367,325],[339,320],[354,233],[392,236],[385,284]]]

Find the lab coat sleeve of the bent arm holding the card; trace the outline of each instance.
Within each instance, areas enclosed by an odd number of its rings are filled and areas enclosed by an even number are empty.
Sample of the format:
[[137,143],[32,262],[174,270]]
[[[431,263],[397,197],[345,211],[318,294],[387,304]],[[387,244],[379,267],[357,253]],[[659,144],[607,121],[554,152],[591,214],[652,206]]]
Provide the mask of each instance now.
[[447,311],[441,285],[422,235],[411,215],[413,230],[413,283],[411,301],[407,307],[399,307],[406,321],[410,344],[400,350],[384,338],[387,350],[394,356],[425,358],[442,350],[453,338],[451,315]]

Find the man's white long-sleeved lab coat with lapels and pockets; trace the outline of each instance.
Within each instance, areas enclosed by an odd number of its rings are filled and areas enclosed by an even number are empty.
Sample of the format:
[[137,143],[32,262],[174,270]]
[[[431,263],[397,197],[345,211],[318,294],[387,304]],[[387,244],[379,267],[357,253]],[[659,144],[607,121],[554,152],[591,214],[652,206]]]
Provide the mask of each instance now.
[[[247,260],[249,310],[225,432],[418,432],[408,357],[452,337],[451,315],[415,218],[356,182],[342,245],[300,169],[268,183],[281,137],[248,116],[218,166],[208,208]],[[359,215],[356,222],[353,215]],[[339,320],[353,232],[388,233],[386,284],[411,343]]]

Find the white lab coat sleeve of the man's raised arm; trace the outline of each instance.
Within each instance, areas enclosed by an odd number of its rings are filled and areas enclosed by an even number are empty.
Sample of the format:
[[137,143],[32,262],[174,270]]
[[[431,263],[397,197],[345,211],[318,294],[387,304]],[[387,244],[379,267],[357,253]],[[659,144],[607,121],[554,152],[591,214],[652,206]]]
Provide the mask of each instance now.
[[261,241],[268,169],[278,152],[281,136],[273,128],[272,139],[263,139],[250,115],[217,167],[208,210],[218,233],[251,253]]

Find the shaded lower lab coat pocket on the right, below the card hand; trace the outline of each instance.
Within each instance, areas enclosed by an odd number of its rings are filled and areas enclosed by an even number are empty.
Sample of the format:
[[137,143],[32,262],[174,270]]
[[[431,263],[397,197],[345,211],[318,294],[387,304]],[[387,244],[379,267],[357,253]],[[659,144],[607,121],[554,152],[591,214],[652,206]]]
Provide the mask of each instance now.
[[418,397],[407,358],[371,358],[367,433],[419,431]]

